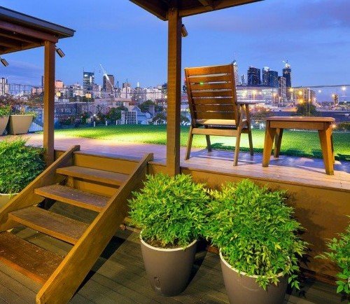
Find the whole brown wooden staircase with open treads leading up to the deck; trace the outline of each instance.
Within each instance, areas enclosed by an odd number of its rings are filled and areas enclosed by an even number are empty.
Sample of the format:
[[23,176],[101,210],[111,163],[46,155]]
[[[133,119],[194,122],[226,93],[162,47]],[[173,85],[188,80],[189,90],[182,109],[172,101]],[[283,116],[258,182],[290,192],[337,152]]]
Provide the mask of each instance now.
[[[148,154],[139,162],[114,167],[113,158],[86,156],[79,150],[79,146],[70,148],[0,209],[0,263],[42,284],[36,303],[69,301],[123,223],[127,198],[153,160]],[[58,214],[55,208],[39,207],[41,202],[61,202],[96,215],[85,223]],[[73,247],[66,256],[59,256],[10,231],[17,226]]]

